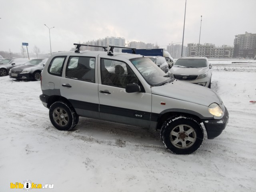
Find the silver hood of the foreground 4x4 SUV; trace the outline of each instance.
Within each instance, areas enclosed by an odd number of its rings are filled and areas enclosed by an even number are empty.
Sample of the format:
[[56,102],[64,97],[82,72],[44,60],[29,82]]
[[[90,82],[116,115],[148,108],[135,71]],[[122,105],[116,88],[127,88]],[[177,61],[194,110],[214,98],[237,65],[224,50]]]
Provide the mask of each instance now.
[[218,94],[204,86],[175,80],[172,83],[151,88],[152,94],[188,101],[204,106],[212,103],[221,104]]

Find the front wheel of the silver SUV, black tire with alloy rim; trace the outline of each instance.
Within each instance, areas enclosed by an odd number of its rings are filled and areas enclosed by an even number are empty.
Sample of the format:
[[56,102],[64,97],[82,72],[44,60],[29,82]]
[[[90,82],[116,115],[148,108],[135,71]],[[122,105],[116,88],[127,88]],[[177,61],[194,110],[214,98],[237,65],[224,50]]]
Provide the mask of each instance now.
[[202,145],[204,131],[200,123],[193,118],[173,116],[162,125],[160,136],[170,152],[191,154]]

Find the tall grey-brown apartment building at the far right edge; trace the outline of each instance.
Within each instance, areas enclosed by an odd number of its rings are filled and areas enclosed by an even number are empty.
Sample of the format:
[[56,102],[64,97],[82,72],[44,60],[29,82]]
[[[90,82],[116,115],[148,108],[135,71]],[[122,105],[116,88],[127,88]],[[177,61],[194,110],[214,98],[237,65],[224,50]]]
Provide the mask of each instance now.
[[256,34],[245,32],[235,35],[233,57],[254,58],[256,55]]

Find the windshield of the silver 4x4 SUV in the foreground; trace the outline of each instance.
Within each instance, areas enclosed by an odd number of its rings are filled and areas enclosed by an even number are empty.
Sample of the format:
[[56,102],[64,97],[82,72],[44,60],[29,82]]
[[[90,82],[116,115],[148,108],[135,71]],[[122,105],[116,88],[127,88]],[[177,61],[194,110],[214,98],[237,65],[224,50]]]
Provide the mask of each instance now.
[[156,66],[150,58],[136,58],[130,60],[130,62],[132,62],[146,82],[151,86],[161,86],[173,81],[173,79]]

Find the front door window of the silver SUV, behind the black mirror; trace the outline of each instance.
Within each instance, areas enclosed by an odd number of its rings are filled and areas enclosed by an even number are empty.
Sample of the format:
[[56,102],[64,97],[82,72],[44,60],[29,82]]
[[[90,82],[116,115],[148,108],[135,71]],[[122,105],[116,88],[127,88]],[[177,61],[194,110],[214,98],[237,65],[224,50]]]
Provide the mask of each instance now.
[[126,88],[126,85],[130,83],[139,84],[139,80],[132,69],[124,62],[102,58],[100,71],[103,85]]

